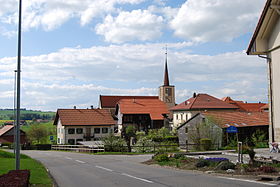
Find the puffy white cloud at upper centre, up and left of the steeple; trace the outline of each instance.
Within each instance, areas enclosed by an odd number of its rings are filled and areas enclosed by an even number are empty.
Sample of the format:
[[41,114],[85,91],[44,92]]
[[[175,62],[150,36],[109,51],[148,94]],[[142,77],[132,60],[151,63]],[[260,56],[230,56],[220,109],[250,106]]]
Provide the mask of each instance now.
[[162,27],[161,16],[139,9],[120,12],[117,17],[106,16],[104,22],[96,26],[96,33],[104,35],[107,42],[147,41],[160,37]]

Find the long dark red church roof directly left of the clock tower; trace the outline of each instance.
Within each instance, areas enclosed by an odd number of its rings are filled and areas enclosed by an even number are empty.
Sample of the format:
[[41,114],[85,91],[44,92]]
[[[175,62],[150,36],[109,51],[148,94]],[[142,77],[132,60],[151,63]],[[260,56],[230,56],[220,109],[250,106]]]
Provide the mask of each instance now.
[[100,95],[99,102],[101,108],[115,108],[121,99],[158,99],[158,96],[117,96],[117,95]]

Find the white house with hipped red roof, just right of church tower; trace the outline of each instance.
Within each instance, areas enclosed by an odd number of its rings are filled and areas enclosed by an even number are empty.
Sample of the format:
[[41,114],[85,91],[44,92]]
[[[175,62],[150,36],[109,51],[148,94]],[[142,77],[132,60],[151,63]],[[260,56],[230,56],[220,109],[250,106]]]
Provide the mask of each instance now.
[[235,111],[238,107],[208,94],[193,94],[193,97],[170,109],[173,112],[173,129],[203,111]]

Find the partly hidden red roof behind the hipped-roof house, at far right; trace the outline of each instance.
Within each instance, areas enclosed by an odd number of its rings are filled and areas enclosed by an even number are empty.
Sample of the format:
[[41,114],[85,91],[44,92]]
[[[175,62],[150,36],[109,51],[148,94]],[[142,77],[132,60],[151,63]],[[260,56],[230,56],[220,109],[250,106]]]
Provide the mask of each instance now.
[[230,97],[224,97],[222,100],[237,106],[240,111],[245,112],[260,112],[261,108],[265,105],[265,103],[244,103],[243,101],[235,101]]

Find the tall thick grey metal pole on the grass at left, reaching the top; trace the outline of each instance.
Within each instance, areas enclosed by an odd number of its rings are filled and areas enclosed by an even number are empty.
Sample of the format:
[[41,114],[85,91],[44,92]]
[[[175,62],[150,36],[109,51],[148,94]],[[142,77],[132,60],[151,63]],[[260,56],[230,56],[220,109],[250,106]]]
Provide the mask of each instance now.
[[17,59],[17,117],[16,117],[16,170],[20,169],[20,63],[21,63],[21,3],[19,0],[18,59]]

